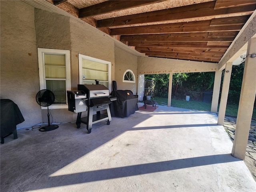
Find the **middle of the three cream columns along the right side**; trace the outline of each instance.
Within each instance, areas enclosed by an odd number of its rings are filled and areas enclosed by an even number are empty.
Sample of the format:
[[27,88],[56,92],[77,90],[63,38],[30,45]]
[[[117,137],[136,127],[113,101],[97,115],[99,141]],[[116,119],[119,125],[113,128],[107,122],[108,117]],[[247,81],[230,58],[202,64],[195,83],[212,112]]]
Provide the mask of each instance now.
[[218,124],[219,125],[224,124],[231,71],[232,71],[232,62],[226,63],[224,79],[223,79],[223,84],[222,84],[221,97],[220,97],[220,108],[219,108],[219,114],[218,114]]

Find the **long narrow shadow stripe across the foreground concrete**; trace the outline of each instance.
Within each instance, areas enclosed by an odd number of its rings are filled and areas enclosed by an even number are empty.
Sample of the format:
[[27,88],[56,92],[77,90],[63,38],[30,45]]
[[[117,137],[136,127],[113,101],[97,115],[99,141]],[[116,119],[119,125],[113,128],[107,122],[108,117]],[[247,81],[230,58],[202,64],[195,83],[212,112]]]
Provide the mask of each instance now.
[[72,185],[72,184],[79,184],[79,183],[85,183],[85,182],[122,178],[122,177],[136,176],[141,174],[150,174],[155,172],[170,171],[170,170],[184,169],[184,168],[197,167],[197,166],[207,166],[207,165],[236,162],[236,161],[242,161],[242,160],[234,158],[231,154],[219,154],[219,155],[210,155],[210,156],[154,162],[154,163],[147,163],[147,164],[137,164],[132,166],[109,168],[109,169],[103,169],[103,170],[93,170],[93,171],[76,173],[76,174],[54,176],[49,180],[54,180],[54,182],[51,182],[53,184],[51,187],[56,187],[56,186],[59,186],[58,180],[61,180],[62,182],[65,181],[66,185]]

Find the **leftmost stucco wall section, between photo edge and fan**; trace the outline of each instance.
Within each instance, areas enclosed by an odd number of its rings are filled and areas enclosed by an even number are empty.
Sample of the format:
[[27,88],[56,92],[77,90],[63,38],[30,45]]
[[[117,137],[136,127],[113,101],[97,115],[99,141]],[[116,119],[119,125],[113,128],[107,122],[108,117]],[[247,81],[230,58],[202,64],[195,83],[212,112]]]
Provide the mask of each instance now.
[[42,121],[34,8],[1,1],[1,99],[14,101],[25,119],[17,128]]

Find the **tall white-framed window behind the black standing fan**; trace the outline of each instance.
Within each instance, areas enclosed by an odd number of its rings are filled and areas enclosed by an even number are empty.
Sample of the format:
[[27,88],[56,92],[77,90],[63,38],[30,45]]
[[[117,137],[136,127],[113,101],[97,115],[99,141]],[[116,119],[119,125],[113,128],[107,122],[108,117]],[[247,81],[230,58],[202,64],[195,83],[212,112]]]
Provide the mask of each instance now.
[[[51,109],[68,108],[67,90],[71,90],[70,51],[38,48],[40,90],[54,93]],[[47,109],[47,107],[41,107]]]

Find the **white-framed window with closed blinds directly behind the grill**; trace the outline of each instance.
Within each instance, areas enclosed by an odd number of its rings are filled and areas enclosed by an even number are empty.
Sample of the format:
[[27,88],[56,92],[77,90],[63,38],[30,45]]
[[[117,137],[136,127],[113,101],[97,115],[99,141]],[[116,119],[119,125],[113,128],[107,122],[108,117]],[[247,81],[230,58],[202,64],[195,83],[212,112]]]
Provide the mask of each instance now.
[[99,84],[106,86],[110,92],[111,62],[78,54],[79,59],[79,84]]

